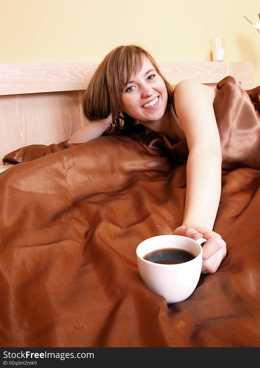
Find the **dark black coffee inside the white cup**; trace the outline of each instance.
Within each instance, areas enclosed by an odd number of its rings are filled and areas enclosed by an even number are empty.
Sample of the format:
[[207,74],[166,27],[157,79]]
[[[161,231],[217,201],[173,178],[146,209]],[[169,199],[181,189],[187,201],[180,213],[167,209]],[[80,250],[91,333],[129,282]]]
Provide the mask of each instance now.
[[152,251],[143,257],[146,261],[161,263],[162,265],[177,265],[196,258],[191,252],[183,249],[164,248]]

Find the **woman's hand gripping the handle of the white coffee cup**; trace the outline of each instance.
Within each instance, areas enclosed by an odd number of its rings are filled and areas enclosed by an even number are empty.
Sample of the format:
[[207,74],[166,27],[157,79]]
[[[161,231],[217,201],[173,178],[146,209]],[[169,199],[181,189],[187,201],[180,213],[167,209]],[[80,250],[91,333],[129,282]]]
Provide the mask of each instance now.
[[202,269],[201,273],[214,273],[219,268],[222,259],[226,256],[226,243],[221,236],[206,227],[180,226],[174,230],[174,235],[187,236],[194,240],[207,239],[202,247]]

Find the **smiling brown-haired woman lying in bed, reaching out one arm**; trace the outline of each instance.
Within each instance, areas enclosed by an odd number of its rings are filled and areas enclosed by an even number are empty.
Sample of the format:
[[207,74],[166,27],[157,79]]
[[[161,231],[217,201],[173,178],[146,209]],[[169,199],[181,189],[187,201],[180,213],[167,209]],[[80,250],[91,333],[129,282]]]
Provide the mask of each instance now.
[[216,89],[188,79],[173,91],[148,52],[136,45],[119,46],[104,58],[87,87],[83,106],[90,122],[68,140],[90,141],[109,126],[112,133],[129,135],[146,127],[175,141],[186,137],[185,210],[183,223],[174,234],[207,239],[203,273],[216,272],[226,255],[225,241],[212,231],[220,200],[222,162],[213,110],[216,93]]

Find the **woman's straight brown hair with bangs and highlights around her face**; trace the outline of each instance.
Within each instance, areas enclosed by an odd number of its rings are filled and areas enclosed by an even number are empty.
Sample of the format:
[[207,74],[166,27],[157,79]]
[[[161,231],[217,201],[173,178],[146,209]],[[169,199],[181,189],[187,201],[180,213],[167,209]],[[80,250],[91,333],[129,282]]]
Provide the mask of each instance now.
[[108,129],[110,134],[120,130],[126,135],[131,135],[134,131],[145,130],[144,125],[128,114],[122,112],[122,116],[118,116],[125,84],[125,71],[128,73],[127,80],[129,80],[133,73],[136,74],[141,70],[143,57],[151,61],[165,82],[168,93],[167,106],[172,103],[173,88],[159,71],[154,58],[140,46],[118,46],[109,52],[100,63],[83,97],[84,114],[88,120],[105,119],[112,114],[113,123]]

